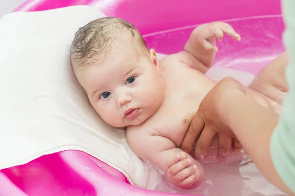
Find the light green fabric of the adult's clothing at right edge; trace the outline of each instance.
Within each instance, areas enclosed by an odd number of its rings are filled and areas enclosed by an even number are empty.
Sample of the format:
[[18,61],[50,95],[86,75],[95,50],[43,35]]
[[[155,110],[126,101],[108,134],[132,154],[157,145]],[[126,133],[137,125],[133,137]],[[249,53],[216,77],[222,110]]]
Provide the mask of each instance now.
[[280,177],[295,193],[295,0],[281,2],[286,24],[283,39],[291,58],[286,70],[290,92],[283,103],[279,124],[272,134],[270,152]]

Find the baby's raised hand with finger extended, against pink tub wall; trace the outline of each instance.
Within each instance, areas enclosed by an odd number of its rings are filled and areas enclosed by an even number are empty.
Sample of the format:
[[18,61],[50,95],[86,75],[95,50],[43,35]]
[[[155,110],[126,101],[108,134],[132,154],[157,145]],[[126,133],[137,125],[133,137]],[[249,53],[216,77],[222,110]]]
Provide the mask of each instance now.
[[[222,41],[224,33],[236,39],[237,41],[241,40],[239,34],[236,33],[234,28],[223,22],[214,22],[200,26],[201,29],[197,31],[197,39],[200,44],[207,50],[218,51],[215,44],[215,37],[218,41]],[[198,27],[197,27],[198,28]]]

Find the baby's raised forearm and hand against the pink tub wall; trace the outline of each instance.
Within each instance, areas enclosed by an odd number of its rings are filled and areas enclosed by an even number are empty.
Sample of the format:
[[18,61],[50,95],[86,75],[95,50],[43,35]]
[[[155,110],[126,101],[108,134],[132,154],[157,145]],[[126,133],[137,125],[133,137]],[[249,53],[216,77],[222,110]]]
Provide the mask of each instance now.
[[237,41],[240,40],[240,36],[231,25],[223,22],[214,22],[195,28],[184,46],[184,51],[200,61],[207,68],[207,71],[212,66],[215,53],[218,50],[215,38],[217,37],[221,41],[224,33]]

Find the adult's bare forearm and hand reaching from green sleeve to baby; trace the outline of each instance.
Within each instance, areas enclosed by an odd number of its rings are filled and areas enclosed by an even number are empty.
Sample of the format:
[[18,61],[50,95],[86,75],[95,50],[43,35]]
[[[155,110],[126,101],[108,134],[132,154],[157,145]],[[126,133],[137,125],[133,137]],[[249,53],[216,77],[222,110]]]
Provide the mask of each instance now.
[[276,171],[269,149],[278,121],[278,114],[247,98],[244,86],[226,77],[202,100],[190,126],[195,135],[201,134],[199,141],[207,145],[215,134],[236,136],[266,179],[287,195],[294,196]]

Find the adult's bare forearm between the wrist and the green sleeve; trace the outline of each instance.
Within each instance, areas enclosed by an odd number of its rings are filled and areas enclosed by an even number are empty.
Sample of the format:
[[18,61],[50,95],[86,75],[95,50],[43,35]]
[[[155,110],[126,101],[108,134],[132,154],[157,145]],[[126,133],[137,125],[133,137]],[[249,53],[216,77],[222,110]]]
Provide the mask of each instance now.
[[279,116],[244,95],[227,103],[224,118],[260,172],[286,193],[292,192],[276,172],[270,156],[270,139]]

